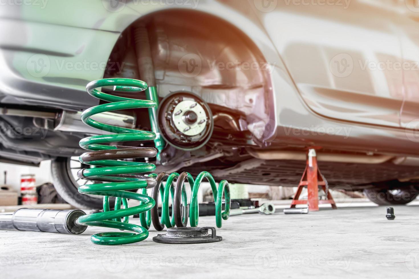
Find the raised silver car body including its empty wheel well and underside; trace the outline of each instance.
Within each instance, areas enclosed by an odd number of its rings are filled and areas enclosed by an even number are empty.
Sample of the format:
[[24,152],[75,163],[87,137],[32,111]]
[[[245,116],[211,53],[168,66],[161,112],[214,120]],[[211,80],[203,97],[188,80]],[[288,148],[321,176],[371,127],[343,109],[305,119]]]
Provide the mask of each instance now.
[[[330,187],[412,187],[419,177],[418,18],[414,0],[6,4],[0,98],[2,125],[12,128],[2,133],[0,153],[36,164],[83,152],[78,141],[87,132],[75,118],[99,104],[85,86],[139,78],[132,28],[142,22],[160,99],[191,92],[219,117],[205,147],[168,152],[162,170],[292,186],[308,148],[316,148]],[[7,113],[13,109],[25,111]],[[58,127],[63,112],[72,114],[65,123],[73,128]],[[134,116],[137,128],[150,127],[146,111]],[[31,133],[17,134],[19,126]],[[36,128],[46,136],[34,135]]]

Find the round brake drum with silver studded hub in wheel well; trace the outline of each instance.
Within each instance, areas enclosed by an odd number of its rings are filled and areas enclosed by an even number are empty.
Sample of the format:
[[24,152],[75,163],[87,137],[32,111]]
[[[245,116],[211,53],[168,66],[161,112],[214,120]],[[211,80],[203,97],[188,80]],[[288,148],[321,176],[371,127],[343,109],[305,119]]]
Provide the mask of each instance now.
[[214,121],[208,104],[190,92],[173,92],[158,108],[162,136],[171,146],[195,150],[212,136]]

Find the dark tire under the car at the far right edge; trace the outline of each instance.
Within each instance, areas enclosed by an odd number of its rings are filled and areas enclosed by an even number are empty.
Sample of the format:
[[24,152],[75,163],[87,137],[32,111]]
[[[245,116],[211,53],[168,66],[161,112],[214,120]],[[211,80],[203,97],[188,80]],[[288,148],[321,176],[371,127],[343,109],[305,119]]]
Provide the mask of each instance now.
[[406,205],[419,194],[413,189],[365,189],[365,196],[378,205]]

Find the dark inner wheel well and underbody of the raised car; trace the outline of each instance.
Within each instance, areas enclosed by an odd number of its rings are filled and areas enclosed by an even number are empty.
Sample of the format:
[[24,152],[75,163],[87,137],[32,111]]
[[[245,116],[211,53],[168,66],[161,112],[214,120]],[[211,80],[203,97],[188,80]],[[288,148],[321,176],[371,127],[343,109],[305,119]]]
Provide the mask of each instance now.
[[[264,61],[262,54],[234,28],[221,34],[213,33],[214,28],[225,25],[222,20],[214,21],[211,27],[203,23],[185,27],[186,17],[170,11],[164,13],[165,16],[142,18],[122,32],[104,74],[104,78],[140,78],[134,27],[147,26],[160,101],[177,92],[198,95],[208,104],[214,130],[207,143],[193,150],[169,144],[161,154],[157,170],[197,174],[199,169],[204,168],[212,171],[217,179],[228,179],[230,183],[296,186],[304,170],[305,152],[317,141],[291,130],[287,134],[286,126],[277,126],[272,117],[272,81],[266,70],[222,71],[217,67],[211,69],[213,64],[208,62],[208,65],[202,66],[203,73],[197,77],[178,71],[178,60],[188,53],[199,52],[204,61],[217,63],[234,59],[240,59],[241,63]],[[204,15],[188,16],[191,20],[191,17],[198,19]],[[210,34],[213,38],[201,40],[191,36],[197,33]],[[124,92],[120,96],[129,97]],[[143,93],[136,97],[146,98]],[[8,162],[36,165],[45,159],[78,156],[84,151],[78,146],[78,141],[86,134],[95,134],[80,121],[81,110],[85,108],[77,111],[68,105],[52,108],[17,105],[15,101],[7,103],[5,99],[2,102],[0,124],[4,132],[0,135],[0,153]],[[116,125],[150,130],[147,110],[126,110],[123,113],[106,117],[114,119]],[[30,127],[31,131],[28,134],[16,132],[18,127]],[[411,154],[397,153],[397,147],[388,148],[391,145],[385,140],[380,141],[383,147],[378,150],[368,145],[357,146],[363,139],[349,139],[347,145],[342,145],[336,144],[336,135],[325,133],[315,136],[317,139],[324,138],[323,147],[318,148],[319,166],[331,188],[358,190],[383,187],[380,182],[384,181],[399,181],[399,187],[410,187],[419,177],[417,159]],[[330,136],[334,139],[331,140]],[[132,142],[129,145],[153,147],[154,143]],[[371,146],[374,144],[371,143]],[[266,157],[266,154],[274,156]],[[155,162],[153,158],[147,160]]]

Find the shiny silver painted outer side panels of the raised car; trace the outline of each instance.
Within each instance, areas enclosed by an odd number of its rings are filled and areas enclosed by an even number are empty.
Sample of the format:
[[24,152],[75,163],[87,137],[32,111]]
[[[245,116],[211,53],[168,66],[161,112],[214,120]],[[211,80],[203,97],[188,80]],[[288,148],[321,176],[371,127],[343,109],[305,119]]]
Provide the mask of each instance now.
[[[265,100],[269,112],[250,127],[260,141],[419,156],[419,139],[414,131],[403,128],[415,117],[412,111],[419,98],[406,99],[403,73],[354,66],[349,76],[339,77],[330,67],[340,54],[349,54],[356,63],[359,59],[377,60],[379,55],[393,63],[403,61],[401,49],[406,46],[410,52],[403,55],[414,60],[418,44],[417,39],[415,44],[410,41],[409,36],[414,36],[410,22],[399,23],[396,12],[361,0],[352,1],[347,9],[278,1],[267,13],[253,5],[256,2],[200,0],[196,6],[190,1],[191,5],[181,8],[232,24],[272,65],[269,86],[273,93]],[[157,5],[127,1],[122,8],[106,3],[49,0],[44,8],[15,5],[0,9],[1,102],[18,99],[71,110],[96,105],[98,101],[85,93],[85,84],[102,78],[104,69],[92,65],[108,61],[120,33],[135,20],[178,8],[161,1]],[[372,18],[367,18],[368,12],[373,13]],[[354,21],[362,15],[361,22]],[[381,21],[375,21],[380,17]],[[358,37],[345,36],[352,32]],[[38,70],[30,65],[37,65]],[[407,120],[401,122],[406,100],[410,111],[403,114]]]

